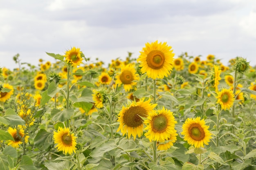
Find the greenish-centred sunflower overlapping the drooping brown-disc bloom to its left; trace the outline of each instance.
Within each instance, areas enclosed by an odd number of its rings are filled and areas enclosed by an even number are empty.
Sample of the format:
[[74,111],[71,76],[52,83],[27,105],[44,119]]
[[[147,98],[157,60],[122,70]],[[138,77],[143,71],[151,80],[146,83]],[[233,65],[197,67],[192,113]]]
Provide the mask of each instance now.
[[[177,136],[177,131],[174,128],[177,121],[175,121],[173,113],[164,107],[161,110],[152,110],[144,124],[147,125],[144,130],[148,130],[145,136],[150,141],[164,142],[169,140],[171,136]],[[176,139],[172,142],[175,141]]]

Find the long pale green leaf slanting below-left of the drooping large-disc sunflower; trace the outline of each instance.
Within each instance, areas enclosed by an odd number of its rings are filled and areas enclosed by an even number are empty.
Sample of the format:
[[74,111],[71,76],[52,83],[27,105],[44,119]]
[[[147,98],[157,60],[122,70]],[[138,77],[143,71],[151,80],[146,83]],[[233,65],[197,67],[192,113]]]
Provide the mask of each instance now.
[[95,148],[91,153],[90,156],[93,158],[102,157],[105,152],[113,150],[117,148],[117,141],[114,139],[104,141],[101,145]]

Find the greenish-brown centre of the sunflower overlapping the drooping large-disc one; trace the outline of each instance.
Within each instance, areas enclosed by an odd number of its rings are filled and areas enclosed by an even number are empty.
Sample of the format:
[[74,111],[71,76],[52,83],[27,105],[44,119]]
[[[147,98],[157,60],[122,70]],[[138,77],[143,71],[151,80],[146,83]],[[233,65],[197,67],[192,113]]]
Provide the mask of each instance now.
[[152,130],[154,132],[163,132],[167,127],[167,119],[164,115],[158,115],[152,119]]

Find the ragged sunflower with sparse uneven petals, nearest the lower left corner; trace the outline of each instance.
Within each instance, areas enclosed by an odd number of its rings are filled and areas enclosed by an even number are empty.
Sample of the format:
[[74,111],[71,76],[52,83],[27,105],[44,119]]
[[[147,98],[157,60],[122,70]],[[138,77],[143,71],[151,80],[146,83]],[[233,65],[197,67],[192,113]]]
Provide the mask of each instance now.
[[[19,129],[17,130],[16,128],[8,128],[9,134],[13,137],[14,140],[9,140],[9,143],[7,145],[11,145],[13,148],[18,148],[20,144],[22,144],[22,138],[25,136],[24,130]],[[29,136],[25,136],[25,143],[28,142]]]

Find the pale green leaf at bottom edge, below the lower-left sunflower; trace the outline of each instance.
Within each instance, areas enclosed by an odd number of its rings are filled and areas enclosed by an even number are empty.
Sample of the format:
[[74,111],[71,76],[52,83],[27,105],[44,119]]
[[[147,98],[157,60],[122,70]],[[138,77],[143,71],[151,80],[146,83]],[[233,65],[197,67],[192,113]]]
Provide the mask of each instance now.
[[70,160],[60,162],[45,161],[45,167],[48,170],[72,170],[73,166],[74,163]]

